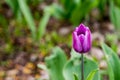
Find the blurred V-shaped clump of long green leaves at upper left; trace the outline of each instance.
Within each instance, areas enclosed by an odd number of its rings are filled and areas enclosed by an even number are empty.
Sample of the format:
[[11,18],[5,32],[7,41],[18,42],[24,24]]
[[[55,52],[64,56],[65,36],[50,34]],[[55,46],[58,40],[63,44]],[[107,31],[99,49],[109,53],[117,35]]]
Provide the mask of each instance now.
[[[31,1],[32,0],[14,0],[11,2],[11,0],[6,0],[7,4],[11,7],[14,15],[17,15],[17,18],[22,17],[21,13],[24,15],[28,27],[31,30],[33,40],[39,40],[45,32],[46,24],[48,23],[50,17],[49,14],[51,13],[48,11],[48,9],[44,9],[45,14],[43,15],[43,18],[41,19],[39,27],[37,29],[30,8],[27,5],[27,3],[31,3]],[[36,4],[37,2],[38,1],[35,1],[33,4]]]

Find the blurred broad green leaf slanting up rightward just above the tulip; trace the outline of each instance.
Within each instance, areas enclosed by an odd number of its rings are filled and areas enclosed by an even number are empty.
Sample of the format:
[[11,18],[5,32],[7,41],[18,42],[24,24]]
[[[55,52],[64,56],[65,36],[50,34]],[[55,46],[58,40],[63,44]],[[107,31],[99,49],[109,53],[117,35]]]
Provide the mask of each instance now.
[[[80,5],[81,4],[81,5]],[[98,5],[98,0],[84,0],[71,13],[70,21],[76,26]]]

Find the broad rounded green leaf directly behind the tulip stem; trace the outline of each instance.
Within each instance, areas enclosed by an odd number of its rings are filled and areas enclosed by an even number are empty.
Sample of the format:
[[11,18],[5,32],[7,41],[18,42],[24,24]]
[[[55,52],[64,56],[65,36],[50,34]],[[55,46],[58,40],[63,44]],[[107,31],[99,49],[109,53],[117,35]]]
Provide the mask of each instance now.
[[[72,55],[78,55],[78,53],[72,51]],[[65,64],[65,67],[63,69],[63,75],[65,77],[65,80],[74,80],[73,73],[76,73],[78,75],[78,79],[81,80],[81,61],[80,61],[80,54],[79,56],[74,56],[72,57],[67,63]],[[98,69],[98,65],[96,64],[95,61],[84,58],[84,78],[86,80],[88,74],[95,70]],[[99,80],[100,79],[100,74],[99,72],[95,73],[95,76],[93,80]]]

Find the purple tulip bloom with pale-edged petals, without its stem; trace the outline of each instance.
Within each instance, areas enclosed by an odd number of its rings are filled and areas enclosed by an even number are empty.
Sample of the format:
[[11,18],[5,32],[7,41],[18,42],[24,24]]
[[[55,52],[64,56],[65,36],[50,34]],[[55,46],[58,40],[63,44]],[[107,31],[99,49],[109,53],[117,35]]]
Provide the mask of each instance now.
[[79,53],[86,53],[90,50],[91,43],[90,29],[84,24],[80,24],[73,32],[73,49]]

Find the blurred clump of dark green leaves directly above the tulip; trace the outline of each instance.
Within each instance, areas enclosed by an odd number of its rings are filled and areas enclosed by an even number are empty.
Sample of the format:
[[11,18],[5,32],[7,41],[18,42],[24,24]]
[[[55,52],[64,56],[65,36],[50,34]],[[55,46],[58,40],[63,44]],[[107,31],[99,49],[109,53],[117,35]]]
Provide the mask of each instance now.
[[76,26],[93,8],[97,7],[98,0],[60,0],[60,3],[64,11],[63,18]]

